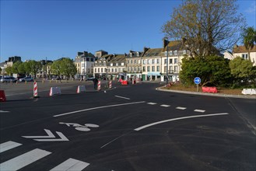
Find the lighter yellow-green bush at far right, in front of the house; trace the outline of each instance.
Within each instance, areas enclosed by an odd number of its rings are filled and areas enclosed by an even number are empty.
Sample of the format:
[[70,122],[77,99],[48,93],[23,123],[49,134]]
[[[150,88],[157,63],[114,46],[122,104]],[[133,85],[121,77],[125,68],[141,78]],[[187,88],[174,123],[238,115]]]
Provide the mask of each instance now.
[[249,81],[255,83],[256,78],[256,67],[249,60],[244,60],[244,58],[234,58],[230,61],[230,71],[233,76],[234,85],[244,85]]

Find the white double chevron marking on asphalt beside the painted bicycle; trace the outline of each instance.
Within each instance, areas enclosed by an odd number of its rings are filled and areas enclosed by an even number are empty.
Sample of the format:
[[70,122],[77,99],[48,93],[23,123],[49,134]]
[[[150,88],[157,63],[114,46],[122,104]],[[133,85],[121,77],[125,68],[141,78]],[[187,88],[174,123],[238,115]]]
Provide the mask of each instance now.
[[[51,133],[50,130],[44,129],[44,131],[48,134],[47,136],[22,136],[23,138],[55,138],[54,134]],[[59,139],[33,139],[34,141],[69,141],[68,138],[65,137],[61,132],[56,131]]]

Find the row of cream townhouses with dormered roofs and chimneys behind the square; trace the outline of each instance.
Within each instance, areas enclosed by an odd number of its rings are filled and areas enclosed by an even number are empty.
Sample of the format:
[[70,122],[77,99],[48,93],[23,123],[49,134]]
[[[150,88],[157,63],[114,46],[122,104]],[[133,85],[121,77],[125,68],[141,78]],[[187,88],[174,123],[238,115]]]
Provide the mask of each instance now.
[[175,82],[179,80],[181,60],[185,54],[188,51],[181,48],[180,41],[167,40],[163,40],[162,48],[144,47],[143,51],[129,51],[128,54],[97,51],[93,72],[97,78],[136,78],[143,81],[164,81],[168,72],[169,79]]

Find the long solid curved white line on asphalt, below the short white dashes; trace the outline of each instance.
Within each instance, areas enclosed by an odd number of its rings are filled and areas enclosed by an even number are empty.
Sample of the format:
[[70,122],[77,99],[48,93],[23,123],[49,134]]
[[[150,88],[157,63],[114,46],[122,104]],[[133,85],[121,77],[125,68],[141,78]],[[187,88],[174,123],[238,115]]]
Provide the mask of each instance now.
[[219,115],[226,115],[226,114],[229,114],[229,113],[214,113],[214,114],[206,114],[206,115],[195,115],[195,116],[190,116],[190,117],[177,117],[177,118],[170,119],[170,120],[162,120],[162,121],[154,122],[152,124],[146,124],[142,127],[137,127],[134,130],[141,131],[142,129],[145,129],[146,127],[152,127],[156,124],[163,124],[163,123],[174,121],[174,120],[184,120],[184,119],[194,118],[194,117],[212,117],[212,116],[219,116]]

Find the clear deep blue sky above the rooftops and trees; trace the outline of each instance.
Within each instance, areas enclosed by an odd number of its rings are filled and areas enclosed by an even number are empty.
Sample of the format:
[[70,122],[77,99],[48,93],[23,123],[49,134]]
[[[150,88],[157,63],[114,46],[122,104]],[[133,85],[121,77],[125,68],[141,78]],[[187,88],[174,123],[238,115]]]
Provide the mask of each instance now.
[[[238,1],[248,26],[256,27],[256,1]],[[163,46],[161,26],[172,1],[1,0],[0,62],[11,56],[22,61],[75,58],[78,51],[109,54]]]

